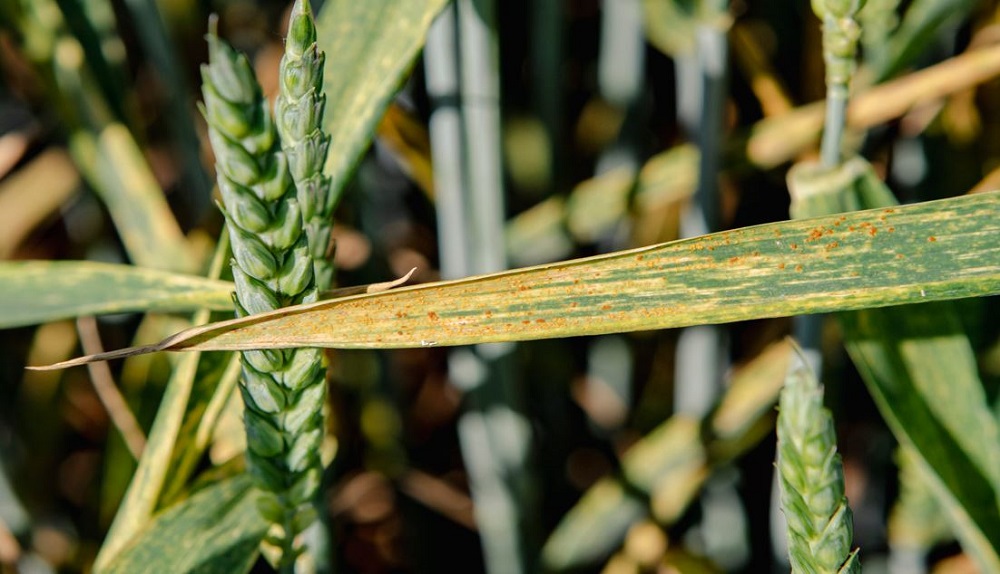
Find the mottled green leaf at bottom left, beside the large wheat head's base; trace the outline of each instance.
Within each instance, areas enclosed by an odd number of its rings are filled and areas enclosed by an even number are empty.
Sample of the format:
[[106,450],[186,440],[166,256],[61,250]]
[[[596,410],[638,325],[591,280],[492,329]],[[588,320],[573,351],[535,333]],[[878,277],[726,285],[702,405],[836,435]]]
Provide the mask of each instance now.
[[157,516],[100,571],[106,574],[248,572],[268,523],[249,475],[206,487]]

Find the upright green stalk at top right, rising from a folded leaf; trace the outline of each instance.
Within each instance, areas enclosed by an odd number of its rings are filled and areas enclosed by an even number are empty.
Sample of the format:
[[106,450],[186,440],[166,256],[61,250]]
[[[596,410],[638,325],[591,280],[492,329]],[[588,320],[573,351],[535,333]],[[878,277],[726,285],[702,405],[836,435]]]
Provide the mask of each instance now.
[[855,15],[865,0],[812,0],[813,12],[823,21],[823,61],[826,63],[826,122],[820,144],[824,167],[840,164],[840,144],[847,120],[851,77],[857,68],[861,29]]

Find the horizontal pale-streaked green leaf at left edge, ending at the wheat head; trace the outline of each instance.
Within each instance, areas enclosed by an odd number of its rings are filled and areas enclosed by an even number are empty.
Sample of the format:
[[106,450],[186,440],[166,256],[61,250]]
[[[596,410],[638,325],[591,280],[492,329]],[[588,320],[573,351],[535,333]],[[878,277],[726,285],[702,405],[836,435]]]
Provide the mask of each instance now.
[[0,263],[0,329],[80,315],[232,307],[233,284],[94,261]]

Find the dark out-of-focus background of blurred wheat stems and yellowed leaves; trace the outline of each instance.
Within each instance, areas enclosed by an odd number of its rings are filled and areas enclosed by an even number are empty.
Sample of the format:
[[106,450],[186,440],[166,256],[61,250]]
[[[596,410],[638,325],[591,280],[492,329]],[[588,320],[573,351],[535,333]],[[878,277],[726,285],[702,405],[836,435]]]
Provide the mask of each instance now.
[[[335,33],[314,4],[320,37]],[[208,16],[219,14],[220,35],[250,56],[273,97],[287,9],[281,0],[2,0],[0,257],[205,274],[222,226],[195,107]],[[823,121],[820,25],[808,2],[515,0],[458,10],[443,35],[461,51],[429,40],[346,182],[334,230],[340,285],[412,267],[425,282],[489,271],[494,259],[521,266],[689,236],[696,196],[707,229],[788,218],[785,175],[816,155]],[[481,58],[465,51],[479,41],[461,27],[472,12],[485,16]],[[860,19],[847,145],[902,202],[1000,186],[1000,6],[869,0]],[[433,58],[458,53],[492,74],[473,87],[482,93],[438,90]],[[434,114],[455,98],[474,107],[479,96],[498,107],[463,108],[465,121],[482,113],[500,130],[472,129],[464,151],[439,147]],[[500,195],[466,201],[493,206],[475,226],[493,218],[497,234],[486,251],[465,255],[466,267],[446,264],[444,252],[465,240],[435,215],[451,196],[432,165],[493,148]],[[445,151],[432,161],[432,149]],[[956,308],[987,395],[1000,404],[996,305]],[[81,345],[157,340],[185,324],[124,313],[100,317],[96,329],[81,320],[0,331],[0,571],[89,570],[179,359],[136,357],[103,373],[24,365]],[[503,360],[488,348],[330,353],[335,458],[318,535],[330,544],[318,568],[787,571],[781,531],[769,525],[773,405],[791,330],[787,319],[719,329],[716,354],[696,369],[709,391],[695,399],[677,375],[692,361],[678,331],[519,344]],[[905,472],[913,463],[897,451],[837,324],[820,332],[866,571],[973,571],[926,486]],[[226,363],[203,361],[197,380],[219,380]],[[500,373],[500,396],[475,375],[469,382],[469,369],[484,368]],[[124,403],[109,407],[98,380],[117,381]],[[211,480],[207,471],[239,464],[240,407],[210,402],[210,383],[199,385],[193,404],[218,411],[219,424],[205,456],[184,464]],[[131,426],[113,422],[122,413],[134,415]],[[195,435],[199,416],[189,413],[182,432]],[[512,514],[489,518],[497,507],[487,506],[476,466],[480,423],[501,453],[491,456],[523,451],[493,469],[518,501]],[[116,426],[131,432],[123,439]],[[169,487],[168,499],[182,486]],[[517,539],[519,558],[505,558],[520,570],[484,557],[498,529]]]

